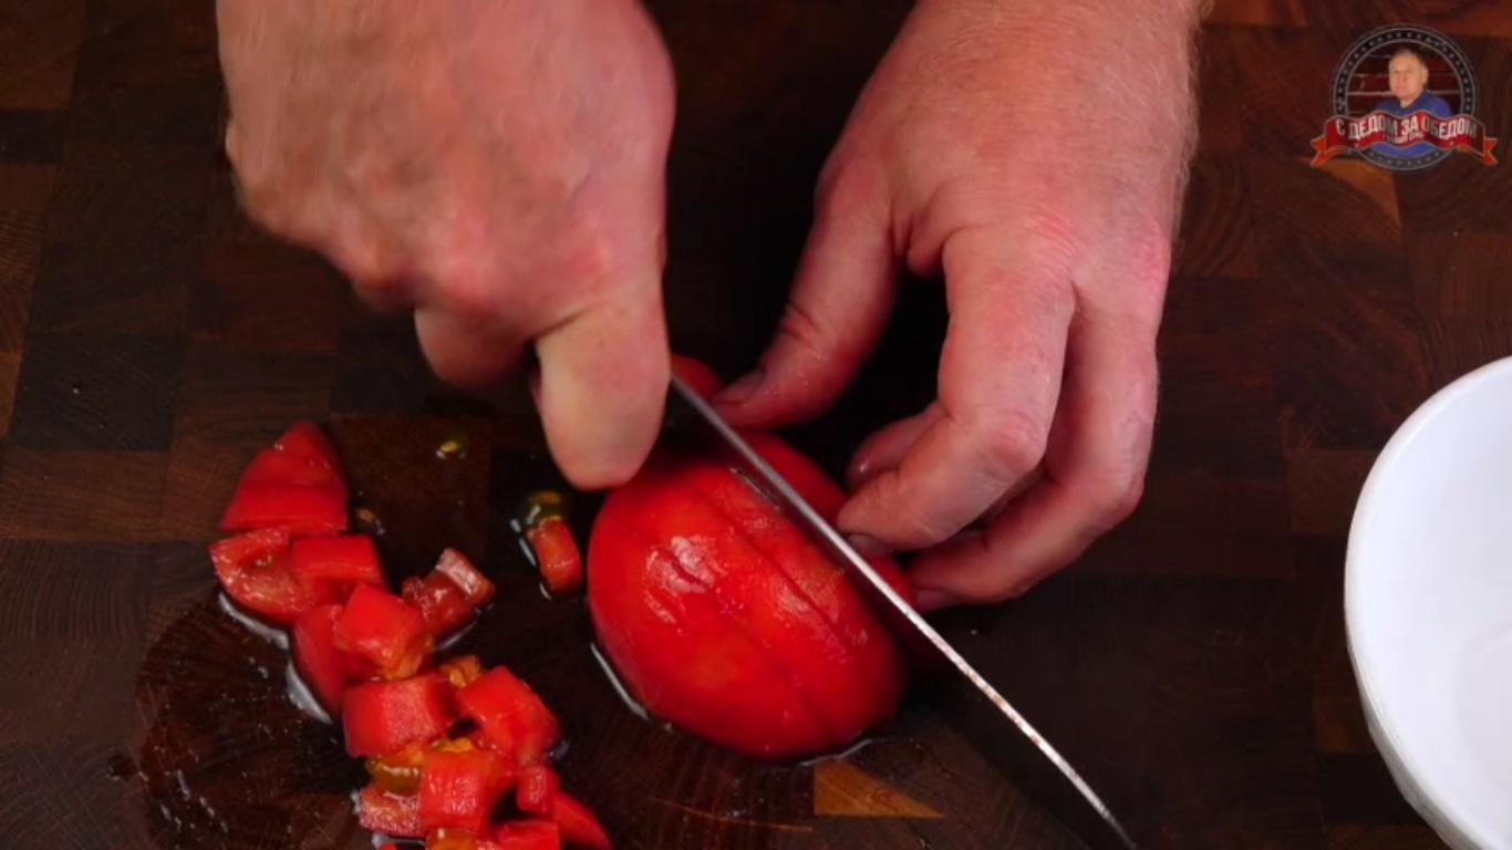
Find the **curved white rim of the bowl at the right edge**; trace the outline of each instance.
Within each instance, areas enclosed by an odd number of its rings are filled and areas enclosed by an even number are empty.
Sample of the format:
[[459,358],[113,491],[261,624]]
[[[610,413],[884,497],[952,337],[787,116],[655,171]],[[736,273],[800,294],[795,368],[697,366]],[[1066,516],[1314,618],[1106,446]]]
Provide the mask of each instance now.
[[1359,628],[1365,617],[1361,599],[1365,566],[1359,558],[1365,535],[1377,514],[1382,490],[1417,439],[1435,419],[1477,392],[1483,384],[1497,378],[1506,378],[1509,374],[1512,374],[1512,357],[1483,363],[1432,393],[1402,422],[1365,476],[1365,484],[1361,487],[1359,498],[1355,502],[1344,554],[1346,646],[1349,647],[1355,681],[1359,685],[1367,727],[1408,803],[1456,850],[1491,847],[1494,845],[1492,835],[1486,824],[1480,823],[1473,812],[1465,811],[1462,805],[1456,805],[1453,799],[1445,797],[1442,788],[1420,779],[1408,767],[1405,756],[1408,750],[1403,746],[1402,731],[1380,709],[1380,694],[1371,676],[1371,669],[1379,667],[1380,661],[1371,655],[1367,646],[1362,646],[1359,638]]

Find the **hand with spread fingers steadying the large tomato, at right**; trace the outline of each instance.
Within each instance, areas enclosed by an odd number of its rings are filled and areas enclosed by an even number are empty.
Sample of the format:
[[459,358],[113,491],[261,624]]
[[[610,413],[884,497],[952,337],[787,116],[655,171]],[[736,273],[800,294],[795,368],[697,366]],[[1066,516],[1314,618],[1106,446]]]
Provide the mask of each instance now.
[[816,414],[898,266],[942,274],[937,399],[860,446],[838,517],[866,549],[928,549],[924,608],[1022,593],[1142,495],[1196,12],[921,0],[826,163],[779,334],[718,404],[742,425]]

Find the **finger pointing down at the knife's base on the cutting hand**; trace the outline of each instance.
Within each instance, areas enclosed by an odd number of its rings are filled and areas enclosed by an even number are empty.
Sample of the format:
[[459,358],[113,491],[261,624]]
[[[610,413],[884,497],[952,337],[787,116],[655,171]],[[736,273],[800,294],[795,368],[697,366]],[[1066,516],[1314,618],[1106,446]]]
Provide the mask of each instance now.
[[635,475],[661,428],[671,354],[659,275],[647,274],[535,343],[547,445],[562,475],[585,490]]

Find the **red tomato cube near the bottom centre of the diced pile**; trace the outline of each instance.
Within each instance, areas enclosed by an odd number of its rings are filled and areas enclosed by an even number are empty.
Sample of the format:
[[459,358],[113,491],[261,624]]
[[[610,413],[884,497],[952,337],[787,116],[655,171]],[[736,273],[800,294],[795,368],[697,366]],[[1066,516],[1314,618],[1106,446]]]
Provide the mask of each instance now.
[[466,829],[481,833],[499,799],[514,783],[510,764],[493,750],[437,749],[425,755],[420,768],[420,826],[435,829]]

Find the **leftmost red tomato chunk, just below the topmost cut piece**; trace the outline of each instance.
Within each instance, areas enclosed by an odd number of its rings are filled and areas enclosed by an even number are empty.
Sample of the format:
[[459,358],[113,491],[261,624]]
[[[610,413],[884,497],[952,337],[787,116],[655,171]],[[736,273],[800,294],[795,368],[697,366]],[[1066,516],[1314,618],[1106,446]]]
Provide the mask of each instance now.
[[337,597],[299,584],[289,561],[289,531],[262,528],[216,540],[210,561],[227,596],[245,611],[280,626]]

